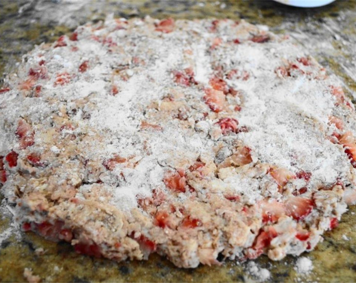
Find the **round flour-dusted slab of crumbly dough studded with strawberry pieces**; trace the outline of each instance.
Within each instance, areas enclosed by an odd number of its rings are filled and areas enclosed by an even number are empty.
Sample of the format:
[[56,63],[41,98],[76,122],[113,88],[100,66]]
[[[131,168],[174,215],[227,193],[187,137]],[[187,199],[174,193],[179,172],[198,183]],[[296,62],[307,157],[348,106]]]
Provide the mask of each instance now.
[[356,200],[339,80],[243,20],[80,26],[23,56],[0,117],[16,221],[90,256],[280,260]]

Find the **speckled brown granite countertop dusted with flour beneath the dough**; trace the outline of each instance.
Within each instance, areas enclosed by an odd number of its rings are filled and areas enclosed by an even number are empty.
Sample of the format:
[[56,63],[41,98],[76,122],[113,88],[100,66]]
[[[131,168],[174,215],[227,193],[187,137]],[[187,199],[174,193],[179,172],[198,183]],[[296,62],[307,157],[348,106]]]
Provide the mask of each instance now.
[[[344,82],[356,97],[356,1],[336,1],[318,9],[298,9],[273,1],[60,1],[0,2],[0,74],[12,72],[21,56],[43,41],[54,41],[89,20],[115,17],[245,18],[268,25],[273,32],[287,33],[310,50],[326,69]],[[1,85],[1,82],[0,82]],[[356,101],[355,101],[356,102]],[[1,119],[1,117],[0,117]],[[2,199],[2,196],[0,196]],[[11,209],[11,208],[10,208]],[[296,258],[272,262],[256,260],[267,268],[268,282],[355,282],[356,207],[342,217],[339,226],[324,235],[313,252],[302,256],[313,262],[310,274],[295,271]],[[223,266],[180,269],[153,255],[148,262],[116,263],[77,255],[68,243],[53,243],[19,232],[9,213],[0,209],[0,281],[25,281],[23,270],[32,268],[42,282],[253,282],[248,262],[227,261]],[[38,248],[44,254],[38,255]]]

